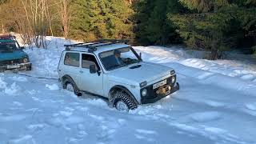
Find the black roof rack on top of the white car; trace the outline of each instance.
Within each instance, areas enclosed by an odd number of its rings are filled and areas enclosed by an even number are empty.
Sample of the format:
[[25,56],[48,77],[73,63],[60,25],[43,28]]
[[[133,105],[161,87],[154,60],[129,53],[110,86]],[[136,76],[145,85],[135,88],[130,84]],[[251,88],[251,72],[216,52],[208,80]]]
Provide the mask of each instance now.
[[82,43],[76,43],[71,45],[64,45],[66,47],[66,50],[71,50],[74,47],[84,47],[88,49],[88,52],[92,53],[97,50],[98,47],[101,46],[109,46],[117,43],[125,43],[127,44],[129,40],[124,39],[100,39],[98,41],[93,42],[82,42]]

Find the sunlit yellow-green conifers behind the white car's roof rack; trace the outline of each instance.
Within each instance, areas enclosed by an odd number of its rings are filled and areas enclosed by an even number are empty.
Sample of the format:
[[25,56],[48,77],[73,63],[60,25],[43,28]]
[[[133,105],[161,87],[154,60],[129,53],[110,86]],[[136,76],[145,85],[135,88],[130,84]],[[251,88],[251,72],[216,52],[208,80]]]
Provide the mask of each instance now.
[[71,35],[86,41],[98,38],[133,38],[126,0],[78,0],[73,3]]

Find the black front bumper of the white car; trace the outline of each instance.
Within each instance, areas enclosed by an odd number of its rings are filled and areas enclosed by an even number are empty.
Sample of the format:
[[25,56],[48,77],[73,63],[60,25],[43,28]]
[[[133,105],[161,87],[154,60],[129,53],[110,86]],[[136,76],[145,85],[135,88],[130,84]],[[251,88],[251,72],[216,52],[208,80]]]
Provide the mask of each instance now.
[[160,99],[166,98],[168,95],[173,94],[175,91],[178,91],[178,90],[179,90],[179,84],[178,82],[176,82],[176,86],[173,86],[168,94],[158,95],[157,97],[154,97],[154,98],[142,98],[141,102],[142,104],[158,102]]

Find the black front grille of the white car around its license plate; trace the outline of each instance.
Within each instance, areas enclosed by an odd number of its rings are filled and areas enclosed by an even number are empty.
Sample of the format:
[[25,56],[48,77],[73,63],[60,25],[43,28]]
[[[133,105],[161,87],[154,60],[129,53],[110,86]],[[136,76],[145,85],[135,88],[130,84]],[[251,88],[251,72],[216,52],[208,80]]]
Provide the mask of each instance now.
[[[172,76],[172,77],[175,77],[175,79],[176,79],[176,75],[174,75],[174,76]],[[174,87],[175,82],[174,82],[174,83],[171,82],[172,77],[166,78],[166,80],[167,80],[166,85],[170,85],[170,86]],[[162,80],[162,81],[163,81],[163,80]],[[159,82],[161,82],[161,81],[159,81]],[[156,83],[158,83],[158,82],[156,82]],[[154,84],[155,84],[155,83],[154,83]],[[142,97],[143,99],[144,99],[144,98],[145,98],[145,99],[150,99],[150,98],[156,98],[156,97],[158,97],[158,96],[161,96],[161,94],[157,94],[157,90],[158,90],[158,89],[153,89],[153,85],[154,85],[154,84],[152,84],[152,85],[150,85],[150,86],[146,86],[145,88],[142,88],[142,90],[144,90],[144,89],[147,90],[147,96],[146,96],[146,97]],[[141,90],[141,94],[142,94],[142,90]]]

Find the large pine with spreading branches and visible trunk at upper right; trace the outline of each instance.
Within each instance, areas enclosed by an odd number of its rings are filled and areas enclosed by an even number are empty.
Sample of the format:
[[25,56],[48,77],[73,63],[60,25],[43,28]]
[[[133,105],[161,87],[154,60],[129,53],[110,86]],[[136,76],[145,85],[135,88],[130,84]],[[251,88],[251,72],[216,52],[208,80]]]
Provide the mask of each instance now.
[[248,6],[253,1],[180,0],[190,12],[170,14],[169,18],[187,46],[209,49],[211,59],[217,59],[223,50],[239,46],[255,30],[255,7]]

